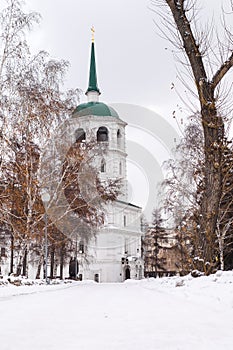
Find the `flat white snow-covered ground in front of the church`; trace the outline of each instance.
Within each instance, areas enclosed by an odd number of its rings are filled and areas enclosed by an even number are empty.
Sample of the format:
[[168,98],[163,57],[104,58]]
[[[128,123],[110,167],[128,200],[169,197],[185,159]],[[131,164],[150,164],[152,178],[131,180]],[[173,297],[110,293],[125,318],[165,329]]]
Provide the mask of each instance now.
[[0,286],[1,350],[232,350],[233,271]]

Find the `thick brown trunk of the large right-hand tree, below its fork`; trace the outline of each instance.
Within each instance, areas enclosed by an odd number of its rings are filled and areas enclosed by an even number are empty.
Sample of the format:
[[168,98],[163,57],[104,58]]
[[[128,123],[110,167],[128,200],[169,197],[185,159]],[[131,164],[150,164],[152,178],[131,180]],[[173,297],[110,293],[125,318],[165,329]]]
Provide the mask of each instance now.
[[[201,249],[205,261],[205,272],[214,268],[218,255],[216,225],[222,194],[222,150],[224,126],[222,117],[217,116],[214,96],[208,84],[202,103],[202,125],[204,130],[204,189],[201,202],[200,234]],[[204,102],[207,101],[207,104]],[[211,103],[209,103],[211,101]]]

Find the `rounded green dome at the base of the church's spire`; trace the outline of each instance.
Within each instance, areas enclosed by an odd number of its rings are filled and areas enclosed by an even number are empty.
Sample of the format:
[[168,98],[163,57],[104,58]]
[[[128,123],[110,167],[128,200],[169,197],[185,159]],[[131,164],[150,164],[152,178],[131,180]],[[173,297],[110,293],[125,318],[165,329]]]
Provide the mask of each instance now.
[[82,103],[75,108],[72,114],[73,117],[82,117],[88,115],[119,118],[119,115],[115,109],[103,102]]

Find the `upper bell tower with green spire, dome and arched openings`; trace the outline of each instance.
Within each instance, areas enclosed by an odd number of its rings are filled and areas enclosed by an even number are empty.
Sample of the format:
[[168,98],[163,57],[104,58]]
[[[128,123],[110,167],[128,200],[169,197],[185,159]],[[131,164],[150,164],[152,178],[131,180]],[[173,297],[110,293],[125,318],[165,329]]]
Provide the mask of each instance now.
[[90,55],[90,69],[87,102],[79,105],[73,112],[78,117],[79,129],[83,130],[86,140],[95,138],[102,144],[103,155],[96,156],[95,162],[100,179],[120,179],[122,188],[120,200],[127,201],[127,171],[125,152],[125,126],[118,113],[107,104],[99,101],[100,90],[97,82],[94,28],[92,28],[92,42]]

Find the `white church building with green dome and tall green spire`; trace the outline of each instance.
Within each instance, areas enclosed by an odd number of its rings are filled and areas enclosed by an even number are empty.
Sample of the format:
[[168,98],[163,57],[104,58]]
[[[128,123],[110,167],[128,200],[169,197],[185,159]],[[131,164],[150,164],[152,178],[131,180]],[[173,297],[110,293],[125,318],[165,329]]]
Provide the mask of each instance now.
[[[92,36],[87,102],[76,107],[71,118],[74,139],[104,143],[106,152],[96,157],[100,180],[120,179],[119,197],[106,204],[105,223],[96,236],[84,246],[79,243],[77,258],[79,277],[96,282],[123,282],[141,279],[144,264],[141,257],[141,208],[128,202],[125,127],[117,111],[100,101],[97,83],[95,42]],[[87,262],[84,253],[91,257]]]

